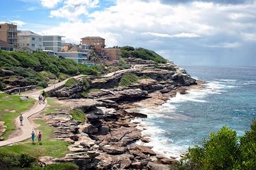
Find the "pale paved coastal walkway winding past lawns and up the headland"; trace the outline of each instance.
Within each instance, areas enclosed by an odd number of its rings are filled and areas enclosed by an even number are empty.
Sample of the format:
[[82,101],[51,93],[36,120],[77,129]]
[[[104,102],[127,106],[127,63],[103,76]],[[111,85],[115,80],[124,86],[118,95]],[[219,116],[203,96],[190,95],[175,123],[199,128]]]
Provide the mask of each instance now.
[[[122,73],[122,72],[125,72],[125,71],[129,71],[129,70],[136,70],[136,67],[140,67],[140,66],[143,66],[143,64],[138,64],[138,65],[135,65],[135,66],[132,66],[131,69],[124,69],[124,70],[120,70],[120,71],[115,71],[115,72],[112,72],[112,73],[108,73],[106,75],[102,75],[102,76],[99,76],[99,77],[102,77],[102,78],[108,78],[108,77],[111,77],[113,76],[114,74],[116,73]],[[145,66],[145,64],[144,64]],[[76,78],[76,79],[80,79],[80,78],[83,78],[84,76],[89,76],[89,75],[78,75],[78,76],[73,76],[73,78]],[[67,79],[68,80],[68,79]],[[43,89],[45,92],[49,91],[49,90],[52,90],[52,89],[56,89],[58,87],[60,87],[61,85],[64,85],[65,82],[67,80],[64,80],[64,81],[61,81],[59,83],[56,83],[54,85],[51,85],[50,87],[47,87],[45,89]],[[36,99],[36,101],[38,101],[38,96],[42,93],[42,90],[38,90],[36,92],[31,92],[29,94],[26,94],[26,96],[29,96],[33,99]],[[45,100],[46,101],[46,100]],[[28,118],[31,117],[31,115],[34,115],[35,113],[39,113],[40,111],[44,110],[45,106],[47,105],[47,101],[45,104],[39,104],[38,102],[36,102],[35,106],[33,106],[33,108],[31,108],[31,110],[29,111],[25,111],[24,113],[22,113],[22,116],[23,116],[23,126],[20,126],[20,120],[19,120],[19,117],[15,118],[15,121],[18,125],[17,128],[20,128],[21,131],[22,131],[22,134],[20,134],[20,136],[15,136],[13,138],[10,138],[10,139],[6,139],[4,141],[0,141],[0,147],[1,146],[6,146],[6,145],[10,145],[12,143],[18,143],[20,141],[24,141],[28,138],[31,138],[31,132],[35,129],[34,127],[30,124]]]

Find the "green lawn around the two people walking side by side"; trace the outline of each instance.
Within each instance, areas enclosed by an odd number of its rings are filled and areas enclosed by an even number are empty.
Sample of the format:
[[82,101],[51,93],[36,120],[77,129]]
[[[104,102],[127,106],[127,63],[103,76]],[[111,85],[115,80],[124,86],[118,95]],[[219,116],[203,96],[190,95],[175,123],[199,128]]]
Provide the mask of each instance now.
[[51,157],[63,157],[68,153],[68,143],[65,141],[52,139],[54,127],[49,127],[46,122],[42,120],[35,120],[36,124],[40,124],[37,128],[42,133],[42,145],[38,145],[37,139],[35,139],[36,145],[32,144],[31,139],[20,143],[15,146],[4,146],[0,148],[0,153],[12,152],[12,153],[28,153],[34,157],[51,156]]

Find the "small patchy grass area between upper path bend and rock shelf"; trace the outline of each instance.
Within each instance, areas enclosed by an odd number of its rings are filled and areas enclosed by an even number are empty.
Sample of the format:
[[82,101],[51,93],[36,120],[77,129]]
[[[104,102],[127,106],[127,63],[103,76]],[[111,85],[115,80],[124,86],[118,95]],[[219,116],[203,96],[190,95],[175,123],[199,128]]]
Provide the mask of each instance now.
[[56,110],[61,109],[61,108],[67,108],[67,106],[61,104],[58,102],[57,99],[53,98],[47,98],[47,106],[46,108],[42,111],[42,115],[47,115],[49,113],[56,113]]

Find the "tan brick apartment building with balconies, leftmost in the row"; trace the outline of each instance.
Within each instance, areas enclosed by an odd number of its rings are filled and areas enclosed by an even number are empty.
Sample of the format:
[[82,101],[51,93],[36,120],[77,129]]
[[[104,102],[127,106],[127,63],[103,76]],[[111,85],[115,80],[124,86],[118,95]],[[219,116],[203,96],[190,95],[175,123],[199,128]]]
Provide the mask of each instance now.
[[0,40],[13,45],[14,48],[18,48],[18,31],[17,25],[14,23],[0,23]]

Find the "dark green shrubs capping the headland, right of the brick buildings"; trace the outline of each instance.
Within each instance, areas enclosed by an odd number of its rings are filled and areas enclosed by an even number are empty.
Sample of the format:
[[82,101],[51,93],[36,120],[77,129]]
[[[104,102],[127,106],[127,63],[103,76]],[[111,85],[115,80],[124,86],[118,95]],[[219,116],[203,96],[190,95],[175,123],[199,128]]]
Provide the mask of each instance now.
[[156,63],[166,63],[166,59],[152,50],[145,48],[134,48],[132,46],[121,47],[122,57],[135,57],[143,60],[153,60]]

